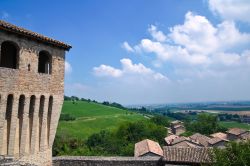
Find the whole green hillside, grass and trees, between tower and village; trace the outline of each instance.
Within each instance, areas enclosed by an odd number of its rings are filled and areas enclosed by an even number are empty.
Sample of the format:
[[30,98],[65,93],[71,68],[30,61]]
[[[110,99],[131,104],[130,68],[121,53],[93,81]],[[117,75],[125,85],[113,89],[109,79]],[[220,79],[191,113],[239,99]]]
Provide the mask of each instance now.
[[147,138],[163,144],[168,118],[148,119],[146,115],[119,109],[121,105],[116,103],[73,98],[63,105],[53,145],[54,156],[133,156],[138,141]]

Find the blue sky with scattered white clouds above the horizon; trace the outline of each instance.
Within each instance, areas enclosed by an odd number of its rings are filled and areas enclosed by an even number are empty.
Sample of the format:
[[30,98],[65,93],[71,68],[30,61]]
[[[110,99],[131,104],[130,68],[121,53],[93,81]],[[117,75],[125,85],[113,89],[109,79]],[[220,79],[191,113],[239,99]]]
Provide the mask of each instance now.
[[250,99],[248,0],[1,0],[0,18],[73,46],[65,94],[122,104]]

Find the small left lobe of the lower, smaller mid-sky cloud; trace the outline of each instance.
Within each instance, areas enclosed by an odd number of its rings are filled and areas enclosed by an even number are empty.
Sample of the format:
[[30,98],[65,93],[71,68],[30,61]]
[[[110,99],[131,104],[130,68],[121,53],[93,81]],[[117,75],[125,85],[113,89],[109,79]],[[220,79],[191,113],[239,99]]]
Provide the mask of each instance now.
[[106,76],[120,77],[122,75],[121,70],[115,69],[107,65],[100,65],[99,67],[94,67],[93,70],[94,70],[94,74],[100,77],[106,77]]

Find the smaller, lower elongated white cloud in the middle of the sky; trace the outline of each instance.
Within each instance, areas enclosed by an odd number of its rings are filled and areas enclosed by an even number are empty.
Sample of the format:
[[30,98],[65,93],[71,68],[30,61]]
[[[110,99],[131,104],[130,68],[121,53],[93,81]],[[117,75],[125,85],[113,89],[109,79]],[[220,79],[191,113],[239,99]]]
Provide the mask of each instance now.
[[167,80],[167,77],[161,73],[157,73],[143,64],[133,64],[130,59],[124,58],[120,60],[122,69],[116,69],[112,66],[100,65],[94,67],[93,71],[99,77],[135,77],[135,78],[152,78],[154,80]]

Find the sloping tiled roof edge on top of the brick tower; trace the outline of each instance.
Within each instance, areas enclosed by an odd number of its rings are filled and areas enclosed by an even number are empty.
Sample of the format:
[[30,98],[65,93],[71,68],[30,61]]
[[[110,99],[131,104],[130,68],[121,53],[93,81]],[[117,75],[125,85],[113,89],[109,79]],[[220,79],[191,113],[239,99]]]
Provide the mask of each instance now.
[[43,35],[38,34],[36,32],[32,32],[32,31],[29,31],[27,29],[15,26],[15,25],[7,23],[3,20],[0,20],[0,30],[12,32],[12,33],[15,33],[17,35],[22,35],[22,36],[25,36],[27,38],[33,39],[33,40],[48,43],[48,44],[51,44],[53,46],[63,48],[65,50],[69,50],[71,48],[71,46],[68,44],[60,42],[58,40],[51,39],[47,36],[43,36]]

